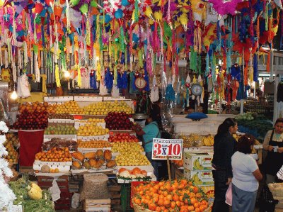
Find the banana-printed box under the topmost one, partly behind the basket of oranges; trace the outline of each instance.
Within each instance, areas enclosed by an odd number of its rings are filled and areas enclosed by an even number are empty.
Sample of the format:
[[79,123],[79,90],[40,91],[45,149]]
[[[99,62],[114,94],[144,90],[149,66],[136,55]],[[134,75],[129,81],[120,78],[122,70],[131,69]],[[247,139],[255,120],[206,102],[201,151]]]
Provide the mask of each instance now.
[[185,179],[190,179],[192,183],[197,186],[211,186],[214,185],[214,179],[212,176],[212,171],[200,171],[193,170],[190,171],[188,169],[184,169],[184,177]]

